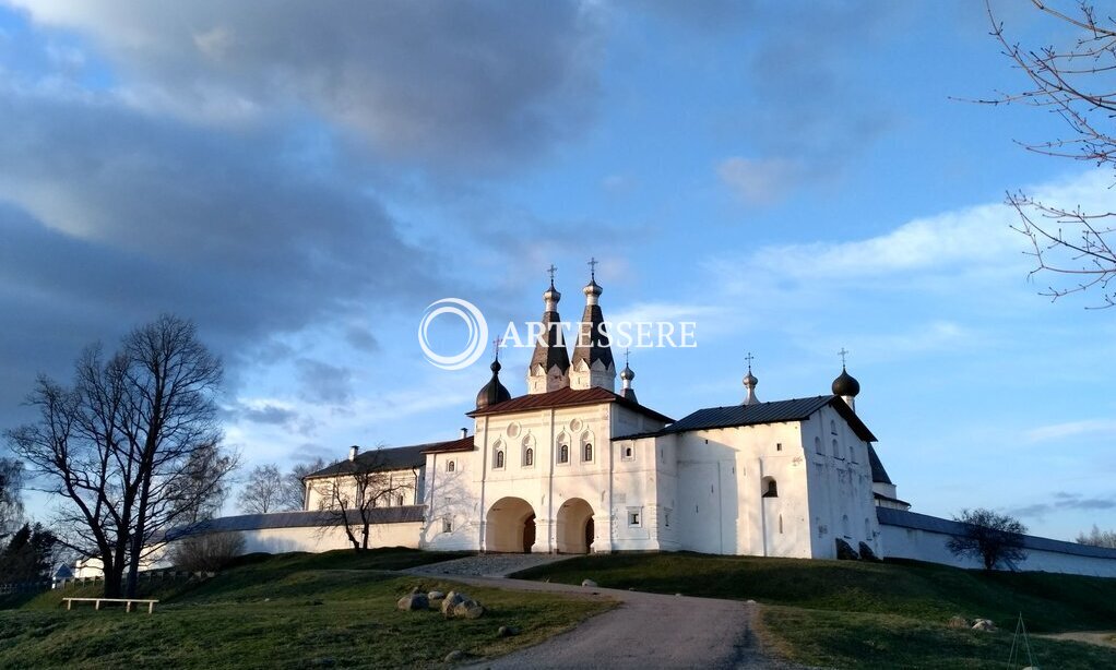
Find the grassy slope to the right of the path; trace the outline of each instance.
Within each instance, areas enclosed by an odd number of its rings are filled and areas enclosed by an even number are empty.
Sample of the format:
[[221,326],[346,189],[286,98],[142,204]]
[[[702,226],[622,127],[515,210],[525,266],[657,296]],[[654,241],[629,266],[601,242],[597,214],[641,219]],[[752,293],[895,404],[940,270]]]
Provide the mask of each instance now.
[[[766,641],[793,661],[833,668],[1003,668],[1020,612],[1036,633],[1116,630],[1116,580],[1076,575],[663,553],[583,556],[514,576],[756,600],[764,605]],[[1001,630],[947,629],[955,614],[991,619]],[[1116,668],[1116,650],[1031,644],[1051,667]]]

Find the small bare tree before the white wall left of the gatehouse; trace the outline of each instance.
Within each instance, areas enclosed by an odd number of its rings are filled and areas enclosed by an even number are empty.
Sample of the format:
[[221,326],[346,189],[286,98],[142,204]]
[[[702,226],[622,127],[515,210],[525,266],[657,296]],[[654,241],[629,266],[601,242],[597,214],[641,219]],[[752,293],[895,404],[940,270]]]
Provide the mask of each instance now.
[[323,528],[341,527],[353,548],[368,548],[377,507],[402,505],[414,495],[419,473],[401,476],[388,470],[377,450],[335,464],[328,476],[316,477],[310,486],[318,496],[318,509],[326,513]]

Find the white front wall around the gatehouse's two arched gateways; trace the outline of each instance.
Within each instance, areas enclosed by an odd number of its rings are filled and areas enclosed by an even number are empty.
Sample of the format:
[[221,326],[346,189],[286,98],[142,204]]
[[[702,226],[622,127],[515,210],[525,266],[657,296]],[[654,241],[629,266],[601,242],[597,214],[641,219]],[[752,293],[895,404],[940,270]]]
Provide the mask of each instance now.
[[[662,423],[613,402],[480,416],[473,451],[427,456],[427,524],[422,546],[487,550],[489,511],[504,498],[519,498],[535,513],[532,552],[567,546],[573,535],[568,528],[559,532],[558,526],[570,518],[575,506],[584,511],[578,501],[591,509],[590,551],[660,548],[658,483],[651,458],[620,463],[619,446],[610,437],[617,431],[661,427]],[[562,445],[568,455],[565,462]],[[588,458],[587,446],[591,446]],[[501,450],[502,458],[497,455]],[[451,459],[455,462],[452,473],[446,467]],[[627,523],[629,507],[637,511],[638,524]]]

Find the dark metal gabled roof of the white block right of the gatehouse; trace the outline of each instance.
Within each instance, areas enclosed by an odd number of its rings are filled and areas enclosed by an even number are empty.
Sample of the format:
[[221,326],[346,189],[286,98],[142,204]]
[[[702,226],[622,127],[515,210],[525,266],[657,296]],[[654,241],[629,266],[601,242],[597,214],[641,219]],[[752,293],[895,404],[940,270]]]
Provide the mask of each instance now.
[[848,421],[848,425],[856,433],[857,437],[869,443],[876,441],[876,436],[868,430],[864,421],[837,396],[816,396],[812,398],[776,400],[773,402],[757,402],[756,405],[731,405],[729,407],[699,409],[679,419],[673,425],[663,428],[661,433],[665,435],[689,430],[708,430],[711,428],[802,421],[827,405],[836,409]]

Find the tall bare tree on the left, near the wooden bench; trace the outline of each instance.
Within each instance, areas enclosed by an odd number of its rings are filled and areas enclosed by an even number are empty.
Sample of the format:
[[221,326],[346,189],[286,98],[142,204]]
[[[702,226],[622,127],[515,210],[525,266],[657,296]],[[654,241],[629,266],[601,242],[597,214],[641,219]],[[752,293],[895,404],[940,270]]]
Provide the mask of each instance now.
[[134,595],[153,541],[196,518],[199,498],[235,466],[218,458],[223,466],[190,480],[204,469],[203,453],[219,449],[221,375],[193,323],[164,314],[133,330],[110,358],[87,348],[73,387],[40,377],[28,397],[38,421],[8,431],[45,491],[64,501],[60,542],[100,561],[106,595]]

